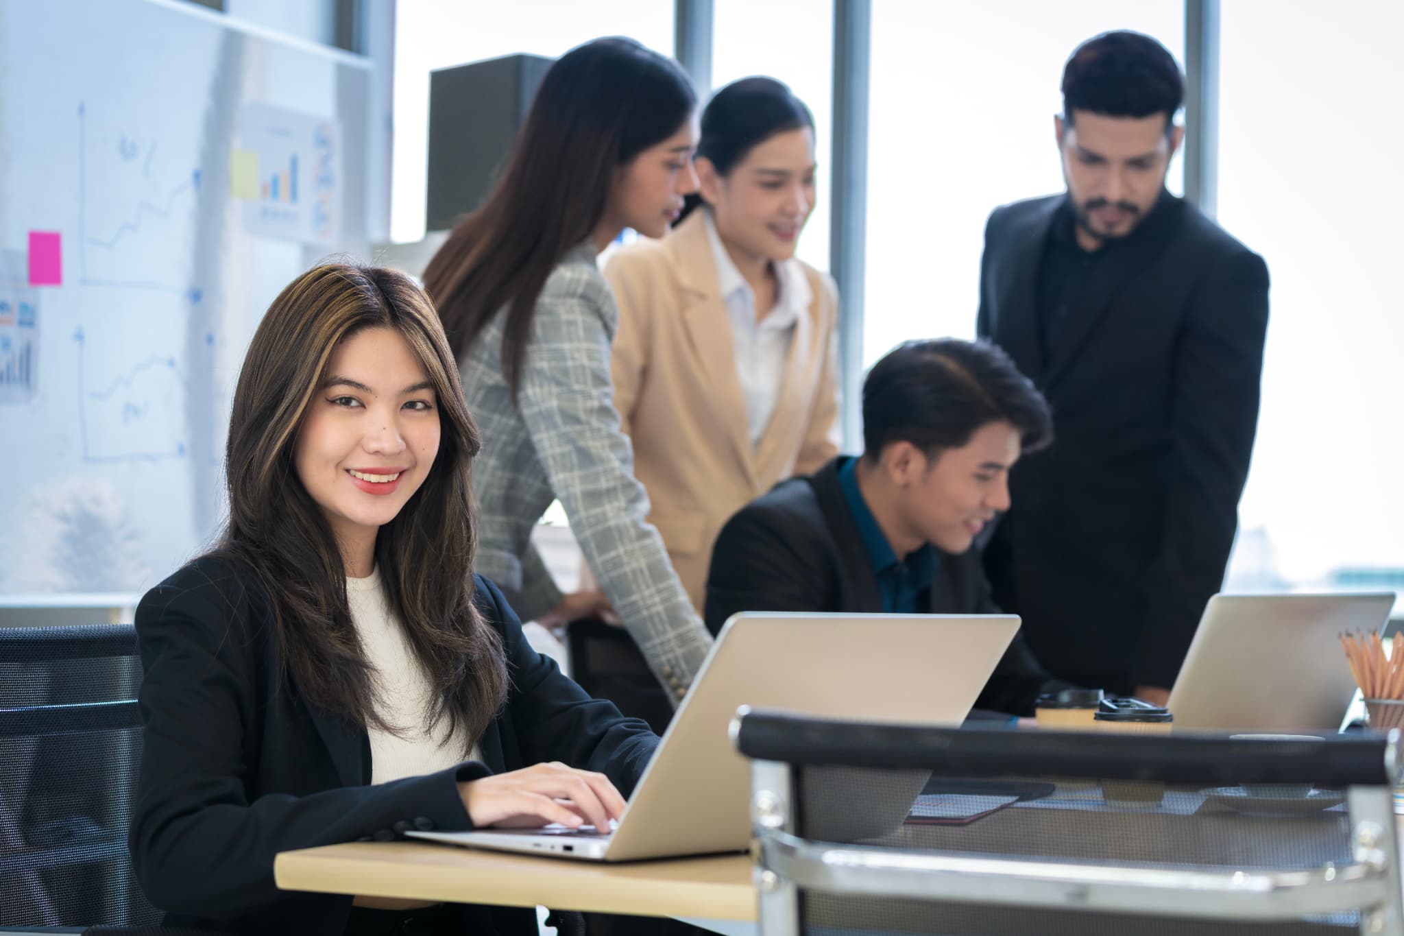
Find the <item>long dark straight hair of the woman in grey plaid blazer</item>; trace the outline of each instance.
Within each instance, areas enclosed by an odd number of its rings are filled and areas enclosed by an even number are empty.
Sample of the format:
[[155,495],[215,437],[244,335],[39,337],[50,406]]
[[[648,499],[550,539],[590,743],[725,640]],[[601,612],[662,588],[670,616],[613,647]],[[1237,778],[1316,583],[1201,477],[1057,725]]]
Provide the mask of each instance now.
[[424,269],[459,359],[507,306],[503,375],[515,393],[550,271],[604,220],[619,167],[695,107],[682,67],[633,39],[595,39],[550,66],[501,180]]

